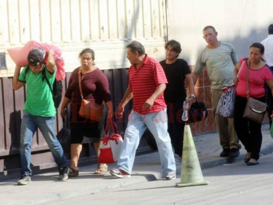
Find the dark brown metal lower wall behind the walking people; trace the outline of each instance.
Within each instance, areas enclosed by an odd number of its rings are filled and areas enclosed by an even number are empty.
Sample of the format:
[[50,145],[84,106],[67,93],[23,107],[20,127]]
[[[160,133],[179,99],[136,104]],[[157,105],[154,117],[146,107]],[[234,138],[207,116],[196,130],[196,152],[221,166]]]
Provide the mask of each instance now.
[[[123,97],[128,86],[128,69],[109,69],[103,70],[109,81],[109,89],[112,95],[114,109],[118,102]],[[71,73],[67,73],[66,79],[63,80],[63,87],[66,90],[68,80]],[[26,87],[22,87],[17,91],[12,89],[12,77],[0,78],[0,176],[8,175],[9,171],[20,169],[20,126],[23,115],[23,107],[26,99]],[[64,95],[65,92],[63,92]],[[131,103],[126,106],[125,117],[117,121],[118,128],[121,134],[124,133],[127,125],[127,115]],[[62,128],[62,119],[60,117],[60,108],[57,109],[56,114],[56,133]],[[63,144],[67,159],[70,159],[70,145]],[[147,150],[148,145],[140,143],[138,150]],[[80,161],[96,160],[96,153],[93,145],[86,141],[83,145]],[[31,165],[38,167],[36,169],[43,169],[56,166],[54,159],[48,149],[48,146],[39,130],[33,136],[32,144],[32,158]]]

